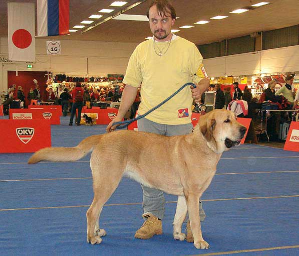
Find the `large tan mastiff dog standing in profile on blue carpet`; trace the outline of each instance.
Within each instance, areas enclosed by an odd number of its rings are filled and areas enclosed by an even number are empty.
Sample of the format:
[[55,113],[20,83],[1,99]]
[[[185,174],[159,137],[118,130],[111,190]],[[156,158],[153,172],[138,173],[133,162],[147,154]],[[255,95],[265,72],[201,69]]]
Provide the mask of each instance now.
[[206,249],[209,244],[202,238],[198,201],[211,183],[221,154],[239,145],[245,132],[233,112],[216,109],[201,116],[189,135],[166,137],[135,131],[94,135],[77,147],[42,149],[28,163],[76,161],[92,151],[94,199],[86,213],[87,241],[92,244],[101,243],[100,236],[106,234],[99,228],[100,213],[126,175],[148,187],[178,195],[174,239],[185,239],[181,229],[188,211],[194,246]]

